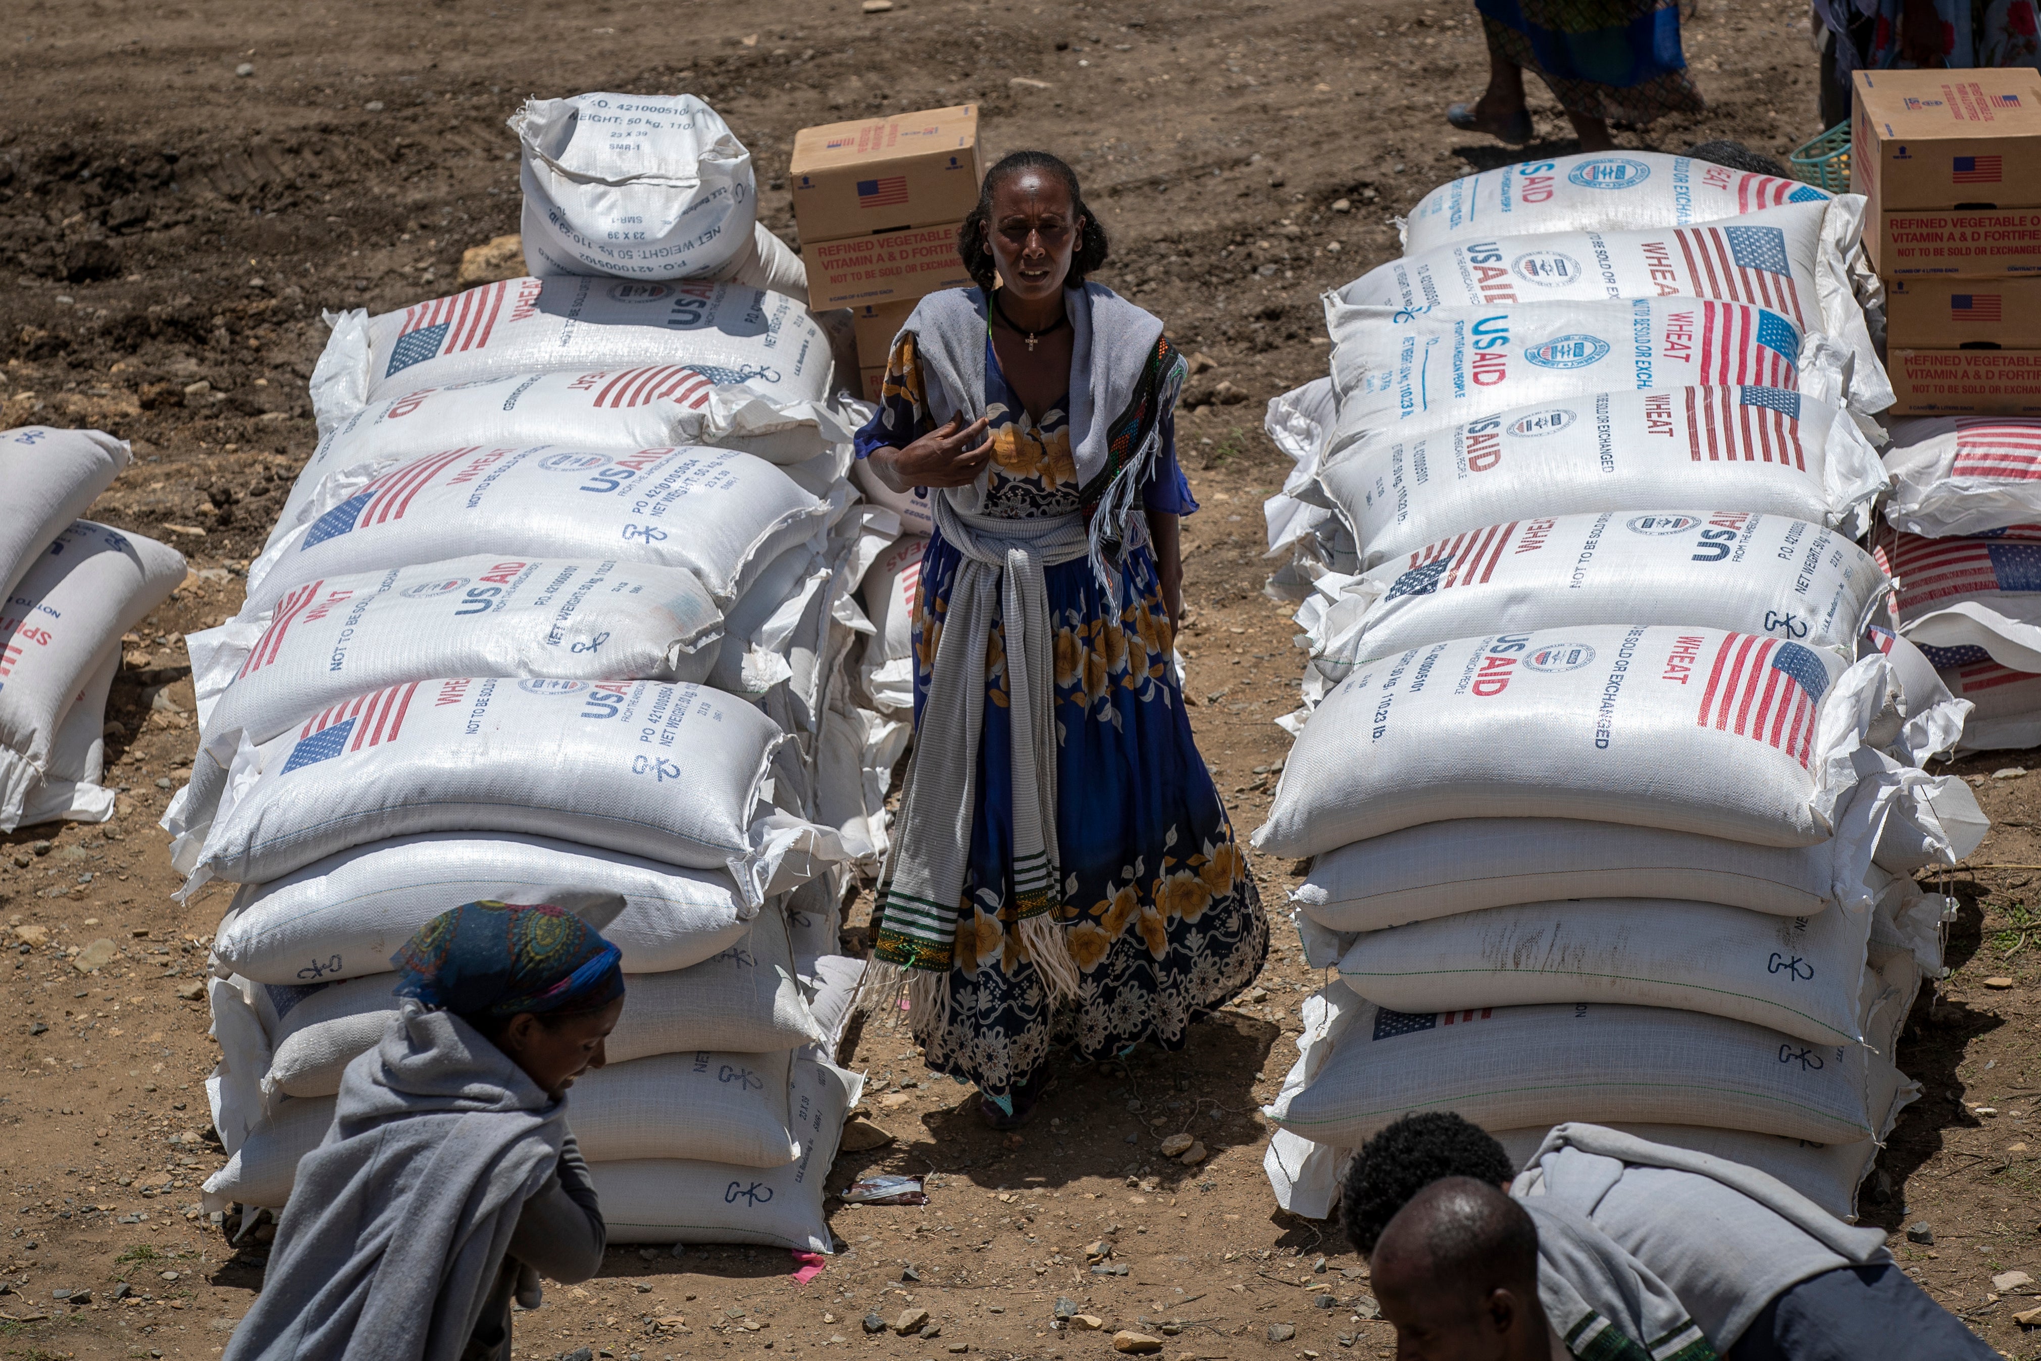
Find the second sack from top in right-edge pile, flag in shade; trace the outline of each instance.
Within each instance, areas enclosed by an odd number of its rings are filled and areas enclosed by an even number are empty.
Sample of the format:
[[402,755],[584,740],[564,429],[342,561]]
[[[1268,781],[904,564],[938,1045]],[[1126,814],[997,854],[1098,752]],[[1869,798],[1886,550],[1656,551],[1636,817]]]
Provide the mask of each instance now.
[[1900,635],[1937,667],[2041,671],[2041,531],[1976,539],[1880,537]]

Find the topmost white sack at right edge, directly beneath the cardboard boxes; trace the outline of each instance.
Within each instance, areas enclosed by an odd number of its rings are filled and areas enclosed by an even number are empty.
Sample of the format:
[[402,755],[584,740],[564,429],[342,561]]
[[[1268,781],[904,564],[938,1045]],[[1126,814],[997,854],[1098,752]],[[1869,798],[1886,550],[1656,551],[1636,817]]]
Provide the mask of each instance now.
[[1886,522],[1908,535],[1988,535],[2041,520],[2041,418],[1892,422]]

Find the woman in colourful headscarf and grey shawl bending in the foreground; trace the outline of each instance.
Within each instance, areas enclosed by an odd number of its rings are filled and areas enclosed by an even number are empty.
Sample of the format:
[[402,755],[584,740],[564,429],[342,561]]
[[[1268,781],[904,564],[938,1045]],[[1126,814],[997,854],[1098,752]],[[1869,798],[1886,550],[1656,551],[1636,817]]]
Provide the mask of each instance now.
[[404,1006],[347,1065],[222,1361],[502,1361],[512,1298],[602,1265],[567,1088],[623,1014],[616,947],[555,906],[469,902],[392,963]]

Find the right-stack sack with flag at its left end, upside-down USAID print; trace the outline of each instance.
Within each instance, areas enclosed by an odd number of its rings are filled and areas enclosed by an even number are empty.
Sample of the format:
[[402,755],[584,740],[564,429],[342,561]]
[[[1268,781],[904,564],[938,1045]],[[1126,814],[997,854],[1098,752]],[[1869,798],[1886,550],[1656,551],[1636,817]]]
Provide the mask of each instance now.
[[1323,575],[1296,620],[1306,698],[1353,667],[1478,633],[1678,620],[1853,657],[1884,569],[1839,533],[1745,510],[1604,512],[1488,524]]

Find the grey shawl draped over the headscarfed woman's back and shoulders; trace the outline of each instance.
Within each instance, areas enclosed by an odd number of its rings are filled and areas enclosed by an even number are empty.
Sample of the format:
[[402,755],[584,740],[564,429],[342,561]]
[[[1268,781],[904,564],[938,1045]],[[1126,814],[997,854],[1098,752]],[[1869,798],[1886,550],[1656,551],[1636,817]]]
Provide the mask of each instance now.
[[347,1065],[222,1361],[455,1361],[565,1135],[565,1102],[465,1020],[404,1002]]

